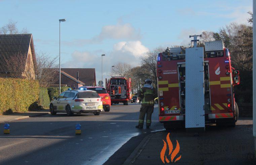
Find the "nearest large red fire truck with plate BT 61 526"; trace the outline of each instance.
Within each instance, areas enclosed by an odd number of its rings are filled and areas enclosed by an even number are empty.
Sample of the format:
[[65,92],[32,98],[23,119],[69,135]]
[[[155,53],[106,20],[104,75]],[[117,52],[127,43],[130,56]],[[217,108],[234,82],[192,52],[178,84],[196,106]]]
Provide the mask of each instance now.
[[[239,71],[231,66],[223,41],[193,48],[167,48],[157,58],[159,121],[164,128],[185,125],[205,130],[205,124],[235,126],[239,110],[234,99]],[[201,36],[200,36],[201,37]]]

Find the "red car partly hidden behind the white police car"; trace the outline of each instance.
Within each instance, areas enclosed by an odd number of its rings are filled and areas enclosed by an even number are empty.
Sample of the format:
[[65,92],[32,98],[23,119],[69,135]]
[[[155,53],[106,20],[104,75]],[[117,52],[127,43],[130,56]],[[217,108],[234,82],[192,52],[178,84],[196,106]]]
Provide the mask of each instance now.
[[101,97],[101,101],[102,101],[104,111],[105,112],[110,111],[111,100],[110,100],[110,96],[107,93],[105,88],[103,88],[103,87],[79,87],[79,89],[81,89],[81,88],[91,90],[91,91],[96,91]]

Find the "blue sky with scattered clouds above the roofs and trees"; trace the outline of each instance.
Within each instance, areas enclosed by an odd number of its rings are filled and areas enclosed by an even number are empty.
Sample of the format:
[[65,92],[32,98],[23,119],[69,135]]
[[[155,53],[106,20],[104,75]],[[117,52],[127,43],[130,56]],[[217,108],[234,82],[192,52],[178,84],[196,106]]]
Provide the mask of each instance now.
[[246,23],[252,0],[130,0],[36,1],[0,0],[0,27],[9,19],[33,34],[36,52],[59,54],[61,23],[62,67],[96,68],[101,79],[111,66],[139,58],[155,47],[182,45],[189,35],[218,31],[231,22]]

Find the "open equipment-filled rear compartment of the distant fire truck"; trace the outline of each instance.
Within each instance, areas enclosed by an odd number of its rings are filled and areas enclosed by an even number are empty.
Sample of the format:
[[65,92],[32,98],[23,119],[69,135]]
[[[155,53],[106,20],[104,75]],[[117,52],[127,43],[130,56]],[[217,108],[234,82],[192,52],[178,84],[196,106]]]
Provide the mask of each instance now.
[[126,99],[125,79],[111,79],[110,89],[111,99]]

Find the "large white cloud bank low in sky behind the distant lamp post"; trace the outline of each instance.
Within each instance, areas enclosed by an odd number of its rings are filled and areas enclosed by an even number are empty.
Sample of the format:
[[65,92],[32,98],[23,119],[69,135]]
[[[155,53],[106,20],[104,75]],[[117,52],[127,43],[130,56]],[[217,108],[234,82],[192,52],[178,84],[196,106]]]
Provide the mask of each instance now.
[[[111,66],[118,62],[129,63],[133,66],[139,65],[140,57],[149,51],[140,41],[122,41],[113,45],[113,49],[105,52],[103,57],[103,75],[111,76]],[[71,54],[72,60],[64,63],[62,67],[67,68],[95,68],[96,80],[101,80],[101,54],[103,50],[94,52],[74,51]]]

